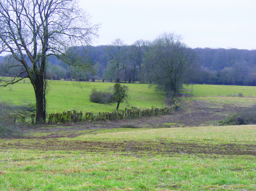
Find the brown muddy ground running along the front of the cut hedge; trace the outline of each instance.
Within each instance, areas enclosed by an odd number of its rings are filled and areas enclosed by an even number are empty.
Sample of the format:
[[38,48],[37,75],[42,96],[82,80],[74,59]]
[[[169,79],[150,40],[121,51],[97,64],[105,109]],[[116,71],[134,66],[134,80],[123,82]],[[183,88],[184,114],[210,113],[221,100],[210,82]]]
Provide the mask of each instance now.
[[[163,115],[150,118],[140,118],[133,120],[120,121],[101,121],[95,123],[82,124],[60,124],[63,127],[47,126],[46,129],[41,129],[40,126],[35,131],[52,132],[49,138],[57,135],[56,131],[80,131],[83,129],[98,129],[98,128],[175,128],[175,127],[196,127],[196,126],[217,126],[220,121],[228,116],[241,111],[243,108],[234,104],[223,104],[219,102],[209,102],[202,100],[185,100],[182,102],[180,111],[173,112],[172,115]],[[56,134],[57,133],[57,134]],[[74,137],[77,134],[65,134],[63,136]]]

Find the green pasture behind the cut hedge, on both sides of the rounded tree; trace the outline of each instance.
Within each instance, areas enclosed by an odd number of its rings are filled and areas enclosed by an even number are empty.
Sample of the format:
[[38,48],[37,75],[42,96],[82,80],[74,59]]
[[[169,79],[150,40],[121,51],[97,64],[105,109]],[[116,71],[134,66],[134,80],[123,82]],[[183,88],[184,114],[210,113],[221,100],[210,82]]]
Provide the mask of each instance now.
[[[25,83],[24,83],[25,82]],[[115,104],[105,105],[92,103],[89,95],[93,88],[104,90],[113,87],[114,83],[100,82],[71,82],[51,80],[48,82],[49,90],[46,96],[47,112],[60,112],[64,110],[76,109],[82,112],[111,112],[116,108]],[[149,84],[125,84],[129,87],[129,104],[122,103],[120,109],[134,106],[140,108],[151,108],[166,106],[166,94],[155,91],[156,87]],[[28,80],[10,86],[10,88],[0,88],[0,101],[12,102],[13,104],[35,104],[35,95],[32,85]],[[191,85],[184,85],[184,89],[191,90]],[[188,92],[189,93],[189,92]],[[190,91],[191,93],[191,91]],[[253,86],[221,86],[221,85],[193,85],[193,96],[205,97],[203,99],[222,99],[229,97],[231,100],[237,99],[241,93],[245,97],[256,97],[256,87]],[[196,99],[196,98],[193,98]]]

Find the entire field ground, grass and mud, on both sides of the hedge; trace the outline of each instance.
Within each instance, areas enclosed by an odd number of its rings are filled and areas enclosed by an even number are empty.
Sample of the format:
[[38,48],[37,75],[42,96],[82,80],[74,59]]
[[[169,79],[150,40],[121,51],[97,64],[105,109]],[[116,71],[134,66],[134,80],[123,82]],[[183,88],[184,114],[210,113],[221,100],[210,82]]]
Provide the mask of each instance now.
[[[91,103],[89,95],[113,85],[50,81],[48,113],[112,111],[115,104]],[[155,87],[126,85],[130,106],[165,105],[165,94]],[[0,139],[0,190],[255,191],[256,125],[209,126],[218,116],[255,104],[255,88],[193,85],[193,97],[181,98],[184,111],[173,116],[24,127],[23,138]],[[0,101],[34,102],[27,81],[9,90],[0,89]],[[204,96],[206,91],[211,94]]]

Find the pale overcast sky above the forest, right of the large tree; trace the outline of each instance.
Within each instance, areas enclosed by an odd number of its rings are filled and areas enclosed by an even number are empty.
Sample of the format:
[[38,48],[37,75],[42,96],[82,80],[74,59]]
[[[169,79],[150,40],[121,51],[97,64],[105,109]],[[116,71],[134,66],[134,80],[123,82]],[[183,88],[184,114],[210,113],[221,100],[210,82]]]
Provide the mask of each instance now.
[[256,0],[81,0],[101,23],[98,42],[126,44],[154,40],[163,32],[183,37],[187,46],[256,49]]

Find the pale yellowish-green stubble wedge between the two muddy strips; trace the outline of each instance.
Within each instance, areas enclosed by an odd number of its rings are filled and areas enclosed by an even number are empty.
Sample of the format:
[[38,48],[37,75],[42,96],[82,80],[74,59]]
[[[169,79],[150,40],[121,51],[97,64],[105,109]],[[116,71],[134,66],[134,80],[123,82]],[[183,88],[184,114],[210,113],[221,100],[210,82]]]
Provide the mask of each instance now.
[[[115,141],[115,140],[136,140],[136,141],[152,141],[164,139],[169,141],[202,141],[215,140],[226,143],[234,143],[236,141],[254,142],[256,141],[256,126],[217,126],[217,127],[189,127],[189,128],[160,128],[160,129],[112,129],[93,132],[93,134],[85,134],[77,136],[74,140],[95,140],[99,141]],[[111,132],[113,131],[113,132]],[[241,133],[244,131],[244,133]],[[232,138],[231,138],[232,137]],[[231,138],[231,139],[230,139]]]

